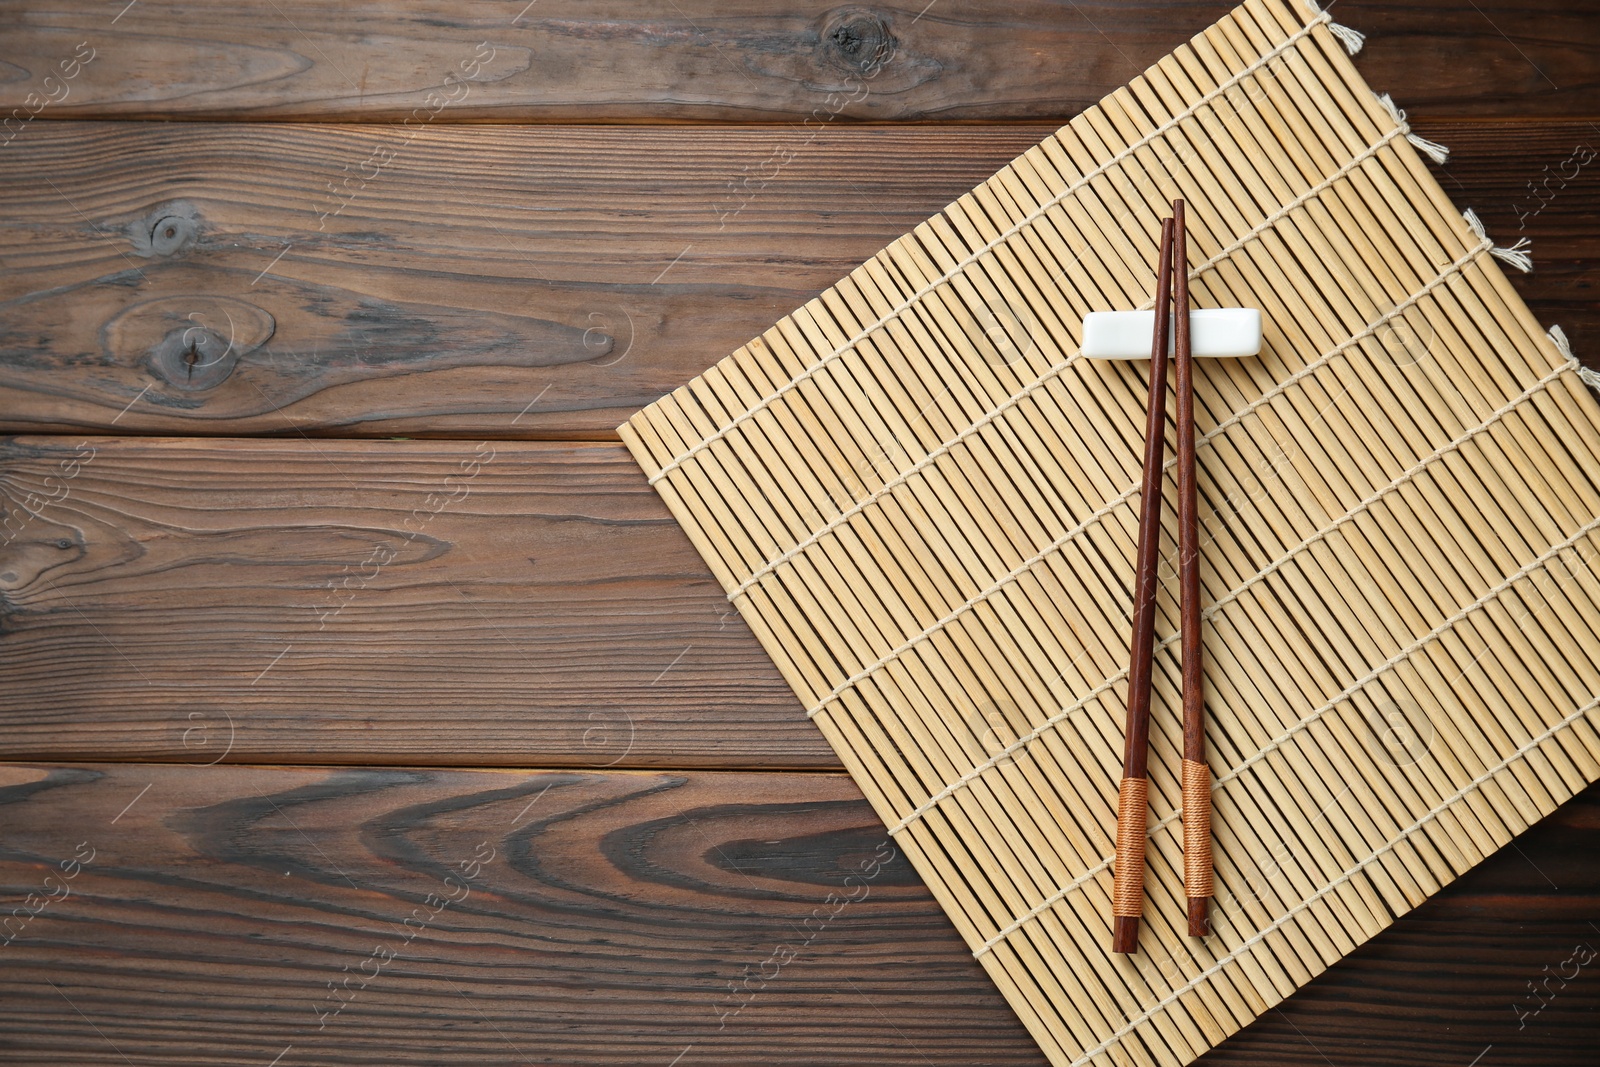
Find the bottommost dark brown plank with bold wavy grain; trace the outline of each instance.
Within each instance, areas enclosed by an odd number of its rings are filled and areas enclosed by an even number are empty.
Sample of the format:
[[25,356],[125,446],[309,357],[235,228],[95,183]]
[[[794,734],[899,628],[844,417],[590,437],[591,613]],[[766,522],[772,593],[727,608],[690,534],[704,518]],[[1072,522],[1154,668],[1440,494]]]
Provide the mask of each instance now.
[[[0,774],[10,1064],[1043,1062],[843,774]],[[1597,854],[1590,789],[1203,1062],[1592,1064],[1600,960],[1512,1008]]]

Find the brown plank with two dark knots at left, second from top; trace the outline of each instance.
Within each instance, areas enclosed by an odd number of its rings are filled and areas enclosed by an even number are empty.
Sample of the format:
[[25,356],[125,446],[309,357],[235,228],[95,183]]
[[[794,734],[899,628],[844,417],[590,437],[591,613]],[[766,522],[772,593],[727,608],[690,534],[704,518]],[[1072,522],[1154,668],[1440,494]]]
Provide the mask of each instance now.
[[[1419,130],[1600,350],[1594,126]],[[0,430],[610,437],[1048,133],[38,123],[0,152]]]

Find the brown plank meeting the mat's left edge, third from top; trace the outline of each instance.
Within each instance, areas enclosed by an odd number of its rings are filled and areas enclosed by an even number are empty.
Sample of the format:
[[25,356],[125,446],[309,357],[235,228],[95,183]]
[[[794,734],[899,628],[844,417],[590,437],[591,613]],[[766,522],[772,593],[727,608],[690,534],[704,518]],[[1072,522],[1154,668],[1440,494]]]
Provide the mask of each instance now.
[[0,758],[838,766],[619,445],[0,448]]

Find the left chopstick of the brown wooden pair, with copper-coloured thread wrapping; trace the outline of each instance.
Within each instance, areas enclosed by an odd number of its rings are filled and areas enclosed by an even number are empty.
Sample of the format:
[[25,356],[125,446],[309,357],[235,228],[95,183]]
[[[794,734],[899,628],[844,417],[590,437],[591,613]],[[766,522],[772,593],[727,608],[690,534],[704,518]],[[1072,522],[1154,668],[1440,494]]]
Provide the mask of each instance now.
[[1150,808],[1146,763],[1150,737],[1150,656],[1155,649],[1155,574],[1162,537],[1162,466],[1166,446],[1166,330],[1171,309],[1173,221],[1162,222],[1150,338],[1150,398],[1144,427],[1144,485],[1133,577],[1133,638],[1128,662],[1128,729],[1117,789],[1117,854],[1112,867],[1112,952],[1136,952],[1144,910],[1144,843]]

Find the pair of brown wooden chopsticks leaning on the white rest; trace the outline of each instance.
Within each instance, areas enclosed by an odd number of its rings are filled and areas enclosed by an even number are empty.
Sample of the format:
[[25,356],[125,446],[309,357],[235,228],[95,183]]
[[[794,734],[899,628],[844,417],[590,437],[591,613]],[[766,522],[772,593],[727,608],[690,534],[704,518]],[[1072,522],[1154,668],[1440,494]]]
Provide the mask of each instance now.
[[[1174,306],[1174,307],[1170,307]],[[1176,317],[1173,320],[1171,317]],[[1189,344],[1189,254],[1184,202],[1162,221],[1150,342],[1149,421],[1133,585],[1133,654],[1128,667],[1128,733],[1117,790],[1117,854],[1112,881],[1112,952],[1138,952],[1144,910],[1144,843],[1149,837],[1150,657],[1155,646],[1155,571],[1162,539],[1162,466],[1166,438],[1166,346],[1173,338],[1178,387],[1178,587],[1184,686],[1184,894],[1189,936],[1210,934],[1211,769],[1205,761],[1205,697],[1200,689],[1200,537],[1195,514],[1194,357]]]

